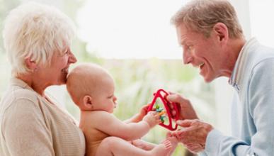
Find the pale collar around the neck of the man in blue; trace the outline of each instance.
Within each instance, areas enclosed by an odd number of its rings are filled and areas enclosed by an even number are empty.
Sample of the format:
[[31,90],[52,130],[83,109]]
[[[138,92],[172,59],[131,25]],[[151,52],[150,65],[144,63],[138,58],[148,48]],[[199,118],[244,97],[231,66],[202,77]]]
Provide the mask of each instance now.
[[241,75],[244,72],[244,67],[246,66],[246,58],[249,56],[249,48],[252,45],[255,45],[256,43],[258,43],[258,41],[256,40],[256,38],[251,38],[249,41],[247,41],[244,44],[244,47],[241,48],[241,52],[239,53],[239,57],[236,60],[234,69],[232,71],[232,76],[229,79],[229,84],[232,85],[232,87],[234,87],[237,91],[240,91],[240,87],[241,87]]

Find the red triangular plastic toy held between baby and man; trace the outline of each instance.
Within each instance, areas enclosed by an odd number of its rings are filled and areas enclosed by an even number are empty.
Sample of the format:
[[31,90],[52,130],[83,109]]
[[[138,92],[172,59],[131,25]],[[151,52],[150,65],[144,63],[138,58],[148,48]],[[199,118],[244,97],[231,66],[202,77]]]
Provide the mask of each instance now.
[[164,128],[167,128],[169,130],[176,130],[178,125],[175,123],[175,125],[173,126],[172,124],[172,116],[171,116],[171,110],[169,108],[169,105],[173,105],[174,110],[176,111],[176,116],[173,117],[173,119],[175,119],[175,121],[178,120],[179,118],[179,111],[178,111],[178,107],[176,104],[170,103],[167,99],[166,96],[168,96],[169,93],[164,91],[164,89],[159,89],[158,91],[156,91],[156,93],[154,93],[154,99],[152,100],[152,103],[150,104],[148,111],[152,111],[152,109],[154,108],[154,104],[156,104],[156,99],[160,98],[161,101],[164,104],[164,108],[166,110],[166,114],[169,118],[169,125],[165,125],[164,123],[159,123],[160,126],[163,126]]

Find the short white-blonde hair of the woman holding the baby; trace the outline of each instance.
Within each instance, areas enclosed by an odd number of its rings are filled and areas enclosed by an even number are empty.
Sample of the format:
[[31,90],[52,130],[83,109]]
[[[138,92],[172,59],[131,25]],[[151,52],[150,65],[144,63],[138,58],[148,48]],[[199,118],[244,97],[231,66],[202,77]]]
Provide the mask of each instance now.
[[54,52],[62,55],[75,34],[74,23],[53,6],[28,3],[18,6],[6,17],[4,47],[13,75],[30,72],[25,59],[50,65]]

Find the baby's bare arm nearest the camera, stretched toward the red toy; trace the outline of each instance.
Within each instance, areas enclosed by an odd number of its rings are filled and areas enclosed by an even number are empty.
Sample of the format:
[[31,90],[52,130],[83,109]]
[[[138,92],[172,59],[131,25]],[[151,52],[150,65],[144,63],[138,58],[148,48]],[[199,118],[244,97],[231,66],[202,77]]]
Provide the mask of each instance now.
[[96,118],[93,118],[92,122],[97,122],[95,125],[98,130],[125,140],[141,138],[150,128],[161,123],[159,115],[156,112],[149,112],[138,123],[124,123],[113,116],[113,114],[105,111],[94,111],[93,114]]

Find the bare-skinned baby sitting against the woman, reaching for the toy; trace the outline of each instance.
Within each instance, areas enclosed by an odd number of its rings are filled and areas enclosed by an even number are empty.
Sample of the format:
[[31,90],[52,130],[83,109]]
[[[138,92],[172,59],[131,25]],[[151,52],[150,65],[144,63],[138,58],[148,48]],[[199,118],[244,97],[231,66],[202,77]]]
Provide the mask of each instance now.
[[[159,145],[139,140],[161,123],[158,113],[144,106],[140,113],[122,122],[113,115],[116,107],[113,77],[102,67],[82,64],[69,73],[67,90],[81,109],[79,127],[86,137],[86,155],[171,155],[178,143],[169,138]],[[111,137],[110,137],[111,136]]]

